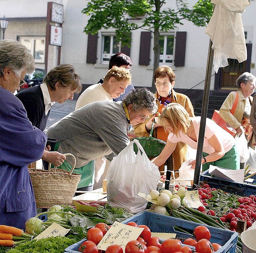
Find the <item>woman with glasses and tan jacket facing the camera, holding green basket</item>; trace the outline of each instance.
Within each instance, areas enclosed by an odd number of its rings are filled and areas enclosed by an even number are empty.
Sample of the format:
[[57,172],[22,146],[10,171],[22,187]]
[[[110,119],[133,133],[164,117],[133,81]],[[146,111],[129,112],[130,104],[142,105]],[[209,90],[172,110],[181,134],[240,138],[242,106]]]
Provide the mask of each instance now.
[[[150,119],[144,123],[134,126],[134,132],[137,136],[148,136],[152,123],[155,117],[161,115],[162,109],[169,103],[178,103],[182,105],[188,112],[190,117],[194,117],[194,109],[190,99],[181,93],[176,93],[173,89],[175,84],[175,74],[172,68],[168,66],[160,66],[154,73],[154,81],[156,85],[156,103],[158,105],[158,112],[155,115],[150,115]],[[164,128],[158,124],[154,124],[154,137],[167,140],[168,134],[164,131]],[[177,143],[173,152],[174,170],[178,171],[181,164],[186,160],[188,147],[186,144],[180,142]],[[162,170],[160,168],[160,170]]]

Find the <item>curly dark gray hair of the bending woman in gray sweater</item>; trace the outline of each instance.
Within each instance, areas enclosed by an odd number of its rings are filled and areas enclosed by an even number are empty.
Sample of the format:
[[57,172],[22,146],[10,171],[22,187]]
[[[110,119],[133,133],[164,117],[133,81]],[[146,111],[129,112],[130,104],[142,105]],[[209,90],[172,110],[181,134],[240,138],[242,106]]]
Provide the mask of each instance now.
[[156,113],[156,98],[146,88],[134,89],[123,99],[126,106],[132,104],[134,111],[148,110],[151,114]]

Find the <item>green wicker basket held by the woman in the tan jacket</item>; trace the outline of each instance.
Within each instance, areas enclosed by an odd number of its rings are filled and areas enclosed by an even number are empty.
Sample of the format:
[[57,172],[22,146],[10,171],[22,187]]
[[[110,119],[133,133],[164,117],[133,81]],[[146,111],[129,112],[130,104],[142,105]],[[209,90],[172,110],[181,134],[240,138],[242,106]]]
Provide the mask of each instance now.
[[[160,140],[157,138],[152,137],[154,130],[154,123],[152,124],[150,134],[148,137],[136,137],[134,139],[137,139],[142,147],[144,148],[146,154],[148,157],[156,157],[159,156],[159,154],[162,152],[166,142],[164,140]],[[138,152],[138,147],[136,144],[134,144],[134,151]]]

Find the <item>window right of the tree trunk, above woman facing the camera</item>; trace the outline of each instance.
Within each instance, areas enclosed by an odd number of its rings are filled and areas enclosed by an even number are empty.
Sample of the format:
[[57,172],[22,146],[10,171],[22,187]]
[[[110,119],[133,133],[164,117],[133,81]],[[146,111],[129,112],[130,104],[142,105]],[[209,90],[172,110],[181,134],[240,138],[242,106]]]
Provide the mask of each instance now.
[[159,37],[160,63],[173,66],[174,35],[162,35]]

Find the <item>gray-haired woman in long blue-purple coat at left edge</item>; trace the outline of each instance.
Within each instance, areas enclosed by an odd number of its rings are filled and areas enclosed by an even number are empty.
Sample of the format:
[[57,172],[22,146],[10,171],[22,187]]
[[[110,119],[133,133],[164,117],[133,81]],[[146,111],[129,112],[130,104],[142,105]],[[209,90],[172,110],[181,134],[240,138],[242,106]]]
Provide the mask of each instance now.
[[20,229],[36,215],[27,166],[42,157],[47,136],[32,126],[12,93],[34,69],[34,58],[24,45],[0,40],[0,224]]

